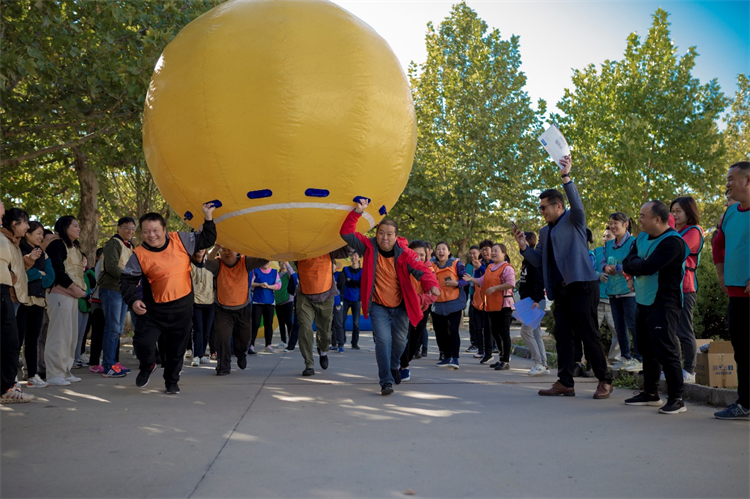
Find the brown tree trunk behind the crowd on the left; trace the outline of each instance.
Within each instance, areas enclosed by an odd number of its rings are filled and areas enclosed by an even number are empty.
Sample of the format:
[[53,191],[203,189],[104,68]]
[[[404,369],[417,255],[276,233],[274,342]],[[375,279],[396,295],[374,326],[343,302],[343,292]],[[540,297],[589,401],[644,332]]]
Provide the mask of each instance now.
[[81,205],[78,212],[78,224],[81,226],[81,251],[86,254],[89,266],[96,261],[96,246],[99,241],[99,212],[97,197],[99,180],[96,172],[89,167],[88,158],[78,146],[71,147],[75,160],[78,184],[81,188]]

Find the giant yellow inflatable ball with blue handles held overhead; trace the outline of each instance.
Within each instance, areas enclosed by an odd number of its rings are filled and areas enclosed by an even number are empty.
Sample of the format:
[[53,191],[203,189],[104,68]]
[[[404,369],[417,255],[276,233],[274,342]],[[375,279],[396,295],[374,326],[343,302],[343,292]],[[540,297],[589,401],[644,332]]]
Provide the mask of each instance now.
[[197,228],[217,200],[218,241],[298,260],[340,248],[358,196],[372,228],[409,178],[416,120],[387,42],[323,0],[233,0],[188,24],[146,96],[144,152]]

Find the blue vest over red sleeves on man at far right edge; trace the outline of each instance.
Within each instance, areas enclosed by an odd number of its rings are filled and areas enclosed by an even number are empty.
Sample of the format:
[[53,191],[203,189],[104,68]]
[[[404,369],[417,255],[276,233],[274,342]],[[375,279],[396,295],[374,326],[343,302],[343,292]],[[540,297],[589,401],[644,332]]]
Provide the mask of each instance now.
[[739,203],[724,212],[724,284],[744,288],[750,280],[750,211],[739,211]]

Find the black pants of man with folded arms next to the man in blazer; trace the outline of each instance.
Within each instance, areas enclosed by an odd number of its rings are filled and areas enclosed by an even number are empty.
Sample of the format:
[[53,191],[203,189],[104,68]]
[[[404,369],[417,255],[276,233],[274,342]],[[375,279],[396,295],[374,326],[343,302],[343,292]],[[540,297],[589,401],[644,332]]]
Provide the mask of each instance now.
[[659,375],[664,371],[670,399],[682,398],[683,377],[680,358],[678,303],[637,305],[635,331],[638,353],[643,357],[643,391],[659,393]]

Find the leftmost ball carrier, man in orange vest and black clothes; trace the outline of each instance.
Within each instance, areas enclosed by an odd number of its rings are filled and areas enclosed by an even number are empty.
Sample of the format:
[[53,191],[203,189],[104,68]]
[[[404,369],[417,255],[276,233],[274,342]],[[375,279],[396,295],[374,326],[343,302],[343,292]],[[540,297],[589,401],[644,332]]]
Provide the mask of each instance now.
[[167,233],[164,217],[158,213],[146,213],[138,221],[143,242],[120,275],[120,292],[143,322],[133,337],[140,361],[135,384],[141,388],[156,370],[156,342],[163,335],[164,384],[168,394],[180,393],[177,382],[193,322],[190,256],[216,242],[214,209],[213,203],[203,205],[206,221],[201,232]]

